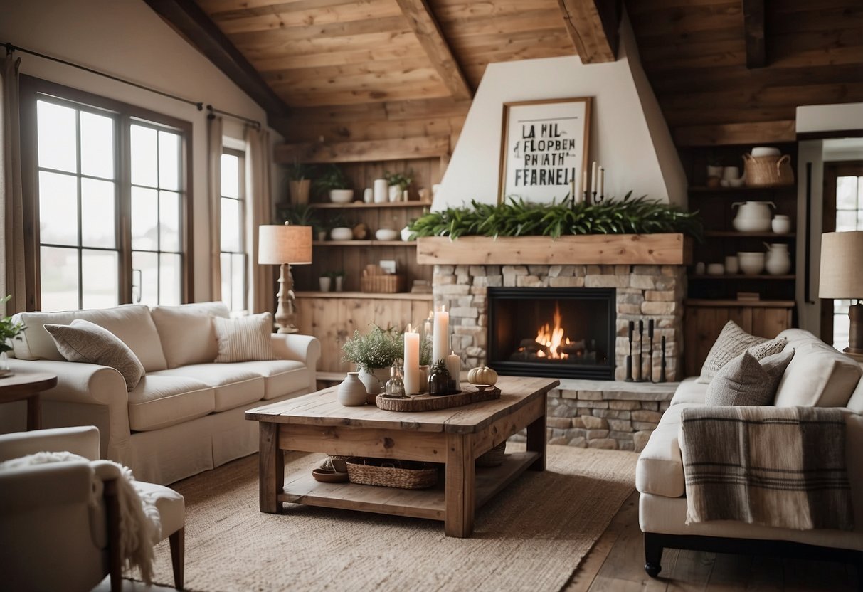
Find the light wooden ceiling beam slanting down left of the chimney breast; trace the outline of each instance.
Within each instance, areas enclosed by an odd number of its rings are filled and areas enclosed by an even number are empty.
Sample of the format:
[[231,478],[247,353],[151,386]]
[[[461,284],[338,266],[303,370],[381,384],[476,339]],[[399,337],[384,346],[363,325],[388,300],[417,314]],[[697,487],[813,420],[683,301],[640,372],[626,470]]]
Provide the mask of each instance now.
[[425,49],[432,66],[438,71],[453,98],[473,98],[474,91],[464,77],[462,67],[452,54],[437,19],[426,0],[396,0],[407,22]]

